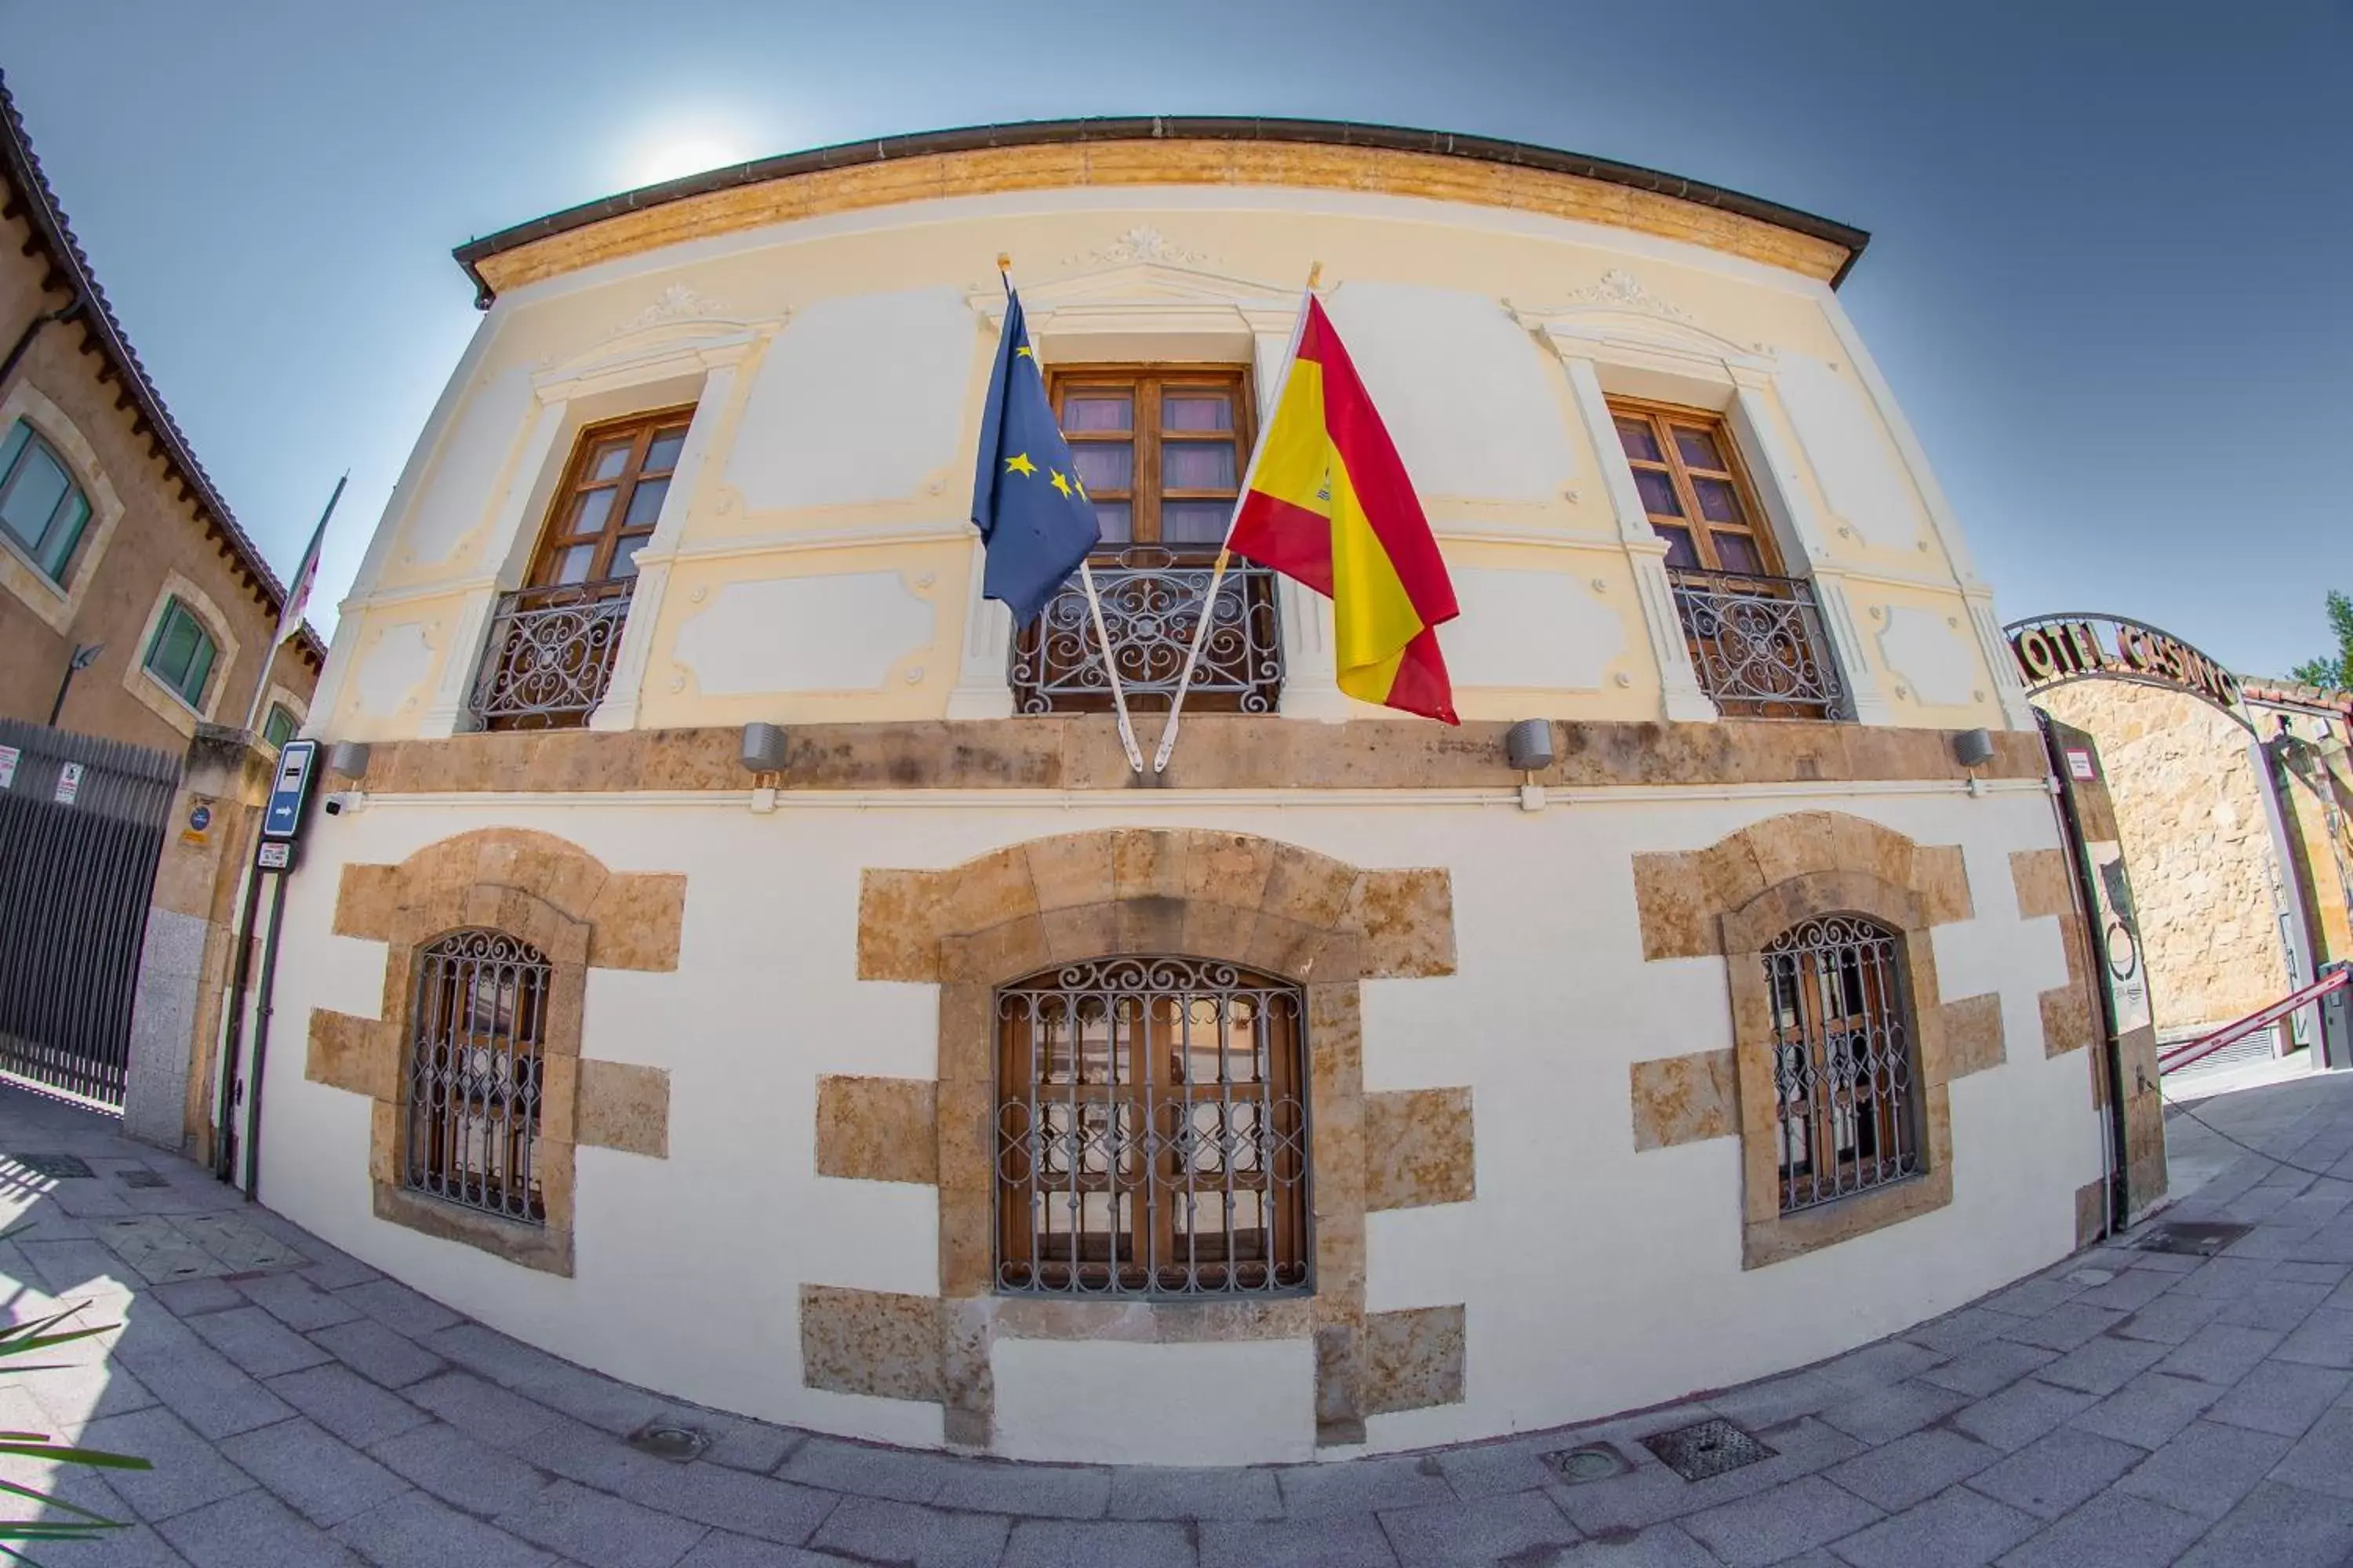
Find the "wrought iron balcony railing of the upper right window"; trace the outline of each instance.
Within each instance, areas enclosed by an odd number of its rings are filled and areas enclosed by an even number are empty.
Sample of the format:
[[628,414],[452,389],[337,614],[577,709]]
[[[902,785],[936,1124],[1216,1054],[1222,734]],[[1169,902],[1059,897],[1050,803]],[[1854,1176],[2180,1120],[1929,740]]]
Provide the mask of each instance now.
[[1847,684],[1800,578],[1668,567],[1699,686],[1744,719],[1845,719]]

